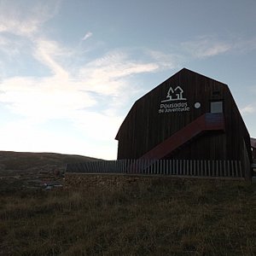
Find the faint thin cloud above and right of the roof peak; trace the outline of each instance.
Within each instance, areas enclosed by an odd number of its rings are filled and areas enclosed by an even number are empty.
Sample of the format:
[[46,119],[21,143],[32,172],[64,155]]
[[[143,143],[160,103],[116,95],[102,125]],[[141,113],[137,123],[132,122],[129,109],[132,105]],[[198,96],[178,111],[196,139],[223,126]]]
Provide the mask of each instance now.
[[196,58],[223,54],[232,48],[231,44],[214,37],[201,37],[196,40],[183,42],[181,46],[184,51]]

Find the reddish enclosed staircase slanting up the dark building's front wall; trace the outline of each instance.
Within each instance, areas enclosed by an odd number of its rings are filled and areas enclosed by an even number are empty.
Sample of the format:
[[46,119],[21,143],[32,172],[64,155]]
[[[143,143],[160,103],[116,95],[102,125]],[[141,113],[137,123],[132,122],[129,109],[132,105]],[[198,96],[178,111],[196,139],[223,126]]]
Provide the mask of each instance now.
[[168,137],[164,142],[152,148],[140,159],[158,160],[165,158],[175,149],[188,143],[194,137],[204,131],[224,131],[224,114],[223,113],[205,113],[193,122],[186,125],[181,130]]

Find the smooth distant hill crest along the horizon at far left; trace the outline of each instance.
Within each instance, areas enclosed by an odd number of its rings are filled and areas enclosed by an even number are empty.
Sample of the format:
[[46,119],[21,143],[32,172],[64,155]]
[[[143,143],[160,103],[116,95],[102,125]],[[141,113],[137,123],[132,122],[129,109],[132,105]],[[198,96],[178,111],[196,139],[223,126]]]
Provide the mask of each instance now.
[[67,163],[85,160],[98,159],[76,154],[0,151],[0,170],[26,170],[46,165],[65,166]]

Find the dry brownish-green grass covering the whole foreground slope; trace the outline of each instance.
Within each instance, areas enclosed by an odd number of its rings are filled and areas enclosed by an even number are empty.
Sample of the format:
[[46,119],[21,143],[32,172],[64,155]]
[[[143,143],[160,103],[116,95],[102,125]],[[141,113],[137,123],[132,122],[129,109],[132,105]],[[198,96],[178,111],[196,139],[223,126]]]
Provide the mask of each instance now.
[[255,254],[255,183],[168,178],[0,195],[0,255]]

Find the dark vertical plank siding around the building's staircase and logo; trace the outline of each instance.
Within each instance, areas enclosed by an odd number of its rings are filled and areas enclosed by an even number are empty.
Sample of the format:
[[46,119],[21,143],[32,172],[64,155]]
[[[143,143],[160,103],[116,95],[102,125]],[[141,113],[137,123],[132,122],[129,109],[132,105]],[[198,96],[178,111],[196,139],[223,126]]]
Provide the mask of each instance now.
[[[166,99],[168,90],[176,86],[183,89],[186,99],[177,103],[186,103],[189,111],[159,113],[160,104]],[[246,163],[253,159],[250,137],[228,85],[186,68],[134,103],[116,136],[119,141],[118,159],[139,159],[201,115],[210,113],[212,101],[223,102],[224,131],[209,131],[193,137],[167,158],[236,160],[247,168]],[[195,102],[200,102],[201,108],[195,108]]]

